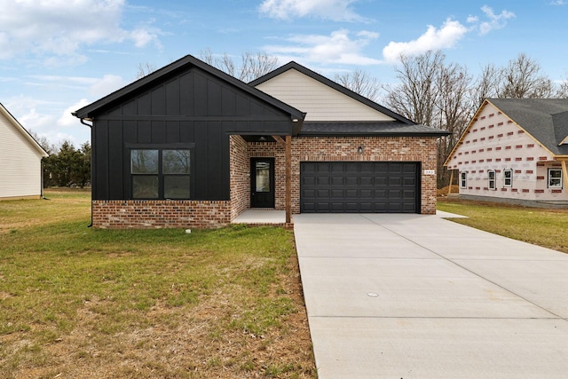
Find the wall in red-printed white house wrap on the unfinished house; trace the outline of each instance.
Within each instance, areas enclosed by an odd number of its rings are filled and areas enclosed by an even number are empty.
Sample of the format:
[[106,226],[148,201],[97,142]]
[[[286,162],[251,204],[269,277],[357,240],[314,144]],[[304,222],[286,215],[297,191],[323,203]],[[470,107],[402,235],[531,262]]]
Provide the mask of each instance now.
[[[447,167],[467,171],[467,186],[460,193],[499,198],[543,201],[565,200],[566,188],[548,188],[548,168],[560,168],[548,149],[487,104],[471,123]],[[495,171],[496,188],[488,188],[489,170]],[[504,170],[513,170],[512,186],[504,185]],[[565,178],[564,178],[564,183]]]

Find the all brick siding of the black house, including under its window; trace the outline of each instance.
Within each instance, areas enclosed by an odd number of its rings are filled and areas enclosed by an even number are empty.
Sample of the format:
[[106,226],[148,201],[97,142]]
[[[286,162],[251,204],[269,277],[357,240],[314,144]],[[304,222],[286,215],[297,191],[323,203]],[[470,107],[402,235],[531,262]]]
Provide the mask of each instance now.
[[[230,201],[92,201],[98,228],[198,228],[228,225],[250,207],[250,158],[273,157],[275,209],[286,207],[286,160],[282,143],[247,143],[231,136]],[[363,153],[359,154],[359,146]],[[300,213],[300,162],[421,162],[436,170],[436,138],[298,137],[292,138],[292,213]],[[436,175],[422,175],[421,213],[436,213]]]

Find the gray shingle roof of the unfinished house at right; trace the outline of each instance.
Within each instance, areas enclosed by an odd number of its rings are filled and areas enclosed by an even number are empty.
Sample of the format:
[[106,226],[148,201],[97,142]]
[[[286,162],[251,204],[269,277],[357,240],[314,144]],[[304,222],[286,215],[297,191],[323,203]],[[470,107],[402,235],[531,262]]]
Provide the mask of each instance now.
[[568,155],[568,99],[487,99],[552,154]]

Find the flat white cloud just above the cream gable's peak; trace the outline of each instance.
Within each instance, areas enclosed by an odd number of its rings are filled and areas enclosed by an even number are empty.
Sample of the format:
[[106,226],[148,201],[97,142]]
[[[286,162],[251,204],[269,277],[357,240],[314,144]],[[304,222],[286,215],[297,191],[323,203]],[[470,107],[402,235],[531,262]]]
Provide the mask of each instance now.
[[312,63],[375,65],[381,61],[366,57],[361,51],[378,37],[377,33],[361,31],[353,39],[349,30],[339,29],[329,36],[289,36],[286,41],[290,44],[264,46],[264,50],[272,55],[286,56],[286,59],[299,59]]

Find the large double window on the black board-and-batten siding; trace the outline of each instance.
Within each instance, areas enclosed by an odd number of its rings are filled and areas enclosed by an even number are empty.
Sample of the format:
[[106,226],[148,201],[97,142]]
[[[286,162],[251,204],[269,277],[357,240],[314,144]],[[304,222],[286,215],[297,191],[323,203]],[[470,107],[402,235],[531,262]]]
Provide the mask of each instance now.
[[133,199],[189,199],[189,149],[132,149]]

